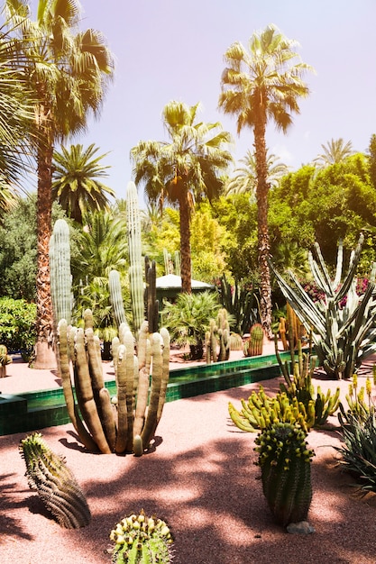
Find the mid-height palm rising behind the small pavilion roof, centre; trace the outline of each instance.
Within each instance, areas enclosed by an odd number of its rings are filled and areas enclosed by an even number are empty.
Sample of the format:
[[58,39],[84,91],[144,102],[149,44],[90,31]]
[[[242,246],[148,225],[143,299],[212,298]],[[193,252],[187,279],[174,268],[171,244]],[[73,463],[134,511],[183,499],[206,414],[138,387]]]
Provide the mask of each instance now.
[[136,185],[143,183],[151,201],[166,198],[179,206],[181,287],[191,292],[190,213],[195,200],[216,197],[220,175],[232,161],[225,149],[230,134],[220,123],[197,122],[199,105],[170,102],[163,121],[170,141],[140,141],[131,150]]

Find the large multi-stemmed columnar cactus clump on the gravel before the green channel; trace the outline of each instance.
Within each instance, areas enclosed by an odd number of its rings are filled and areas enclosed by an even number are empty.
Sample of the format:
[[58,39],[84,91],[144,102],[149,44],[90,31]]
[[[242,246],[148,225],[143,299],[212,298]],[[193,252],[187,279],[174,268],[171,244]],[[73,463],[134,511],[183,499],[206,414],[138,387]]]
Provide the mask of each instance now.
[[105,388],[99,340],[94,335],[90,310],[84,319],[84,329],[72,327],[68,332],[65,320],[60,320],[58,327],[59,370],[69,417],[88,450],[106,454],[133,451],[140,456],[149,447],[165,402],[170,374],[169,332],[162,328],[160,333],[150,335],[148,323],[142,323],[136,356],[133,334],[125,323],[121,324],[113,346],[117,384],[114,408]]

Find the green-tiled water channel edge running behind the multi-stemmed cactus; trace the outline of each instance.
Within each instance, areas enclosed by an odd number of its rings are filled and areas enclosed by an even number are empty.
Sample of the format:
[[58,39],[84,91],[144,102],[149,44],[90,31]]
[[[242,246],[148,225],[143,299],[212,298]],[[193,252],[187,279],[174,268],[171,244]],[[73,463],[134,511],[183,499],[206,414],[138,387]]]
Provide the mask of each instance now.
[[[282,353],[282,359],[283,356]],[[260,366],[261,364],[263,366]],[[226,372],[230,370],[230,373],[223,374],[225,370]],[[209,376],[199,378],[203,372],[206,374],[209,372]],[[214,365],[170,370],[170,376],[174,378],[184,377],[187,374],[197,375],[197,379],[193,382],[170,383],[166,394],[167,402],[276,378],[280,375],[280,368],[276,364],[274,355],[266,355],[250,359],[227,360]],[[115,394],[114,380],[105,382],[105,386],[111,395]],[[56,398],[57,405],[37,406],[43,400],[45,404],[48,404],[54,398]],[[28,392],[18,396],[2,395],[1,400],[0,435],[30,432],[69,423],[62,389]]]

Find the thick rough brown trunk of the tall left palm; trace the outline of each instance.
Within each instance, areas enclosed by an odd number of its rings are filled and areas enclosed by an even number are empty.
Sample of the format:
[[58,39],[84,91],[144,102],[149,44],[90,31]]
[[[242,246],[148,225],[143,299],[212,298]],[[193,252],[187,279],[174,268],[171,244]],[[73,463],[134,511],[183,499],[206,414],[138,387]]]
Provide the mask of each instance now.
[[52,154],[53,143],[41,141],[38,148],[37,197],[37,341],[33,368],[44,369],[56,368],[56,357],[53,349],[53,314],[49,265]]

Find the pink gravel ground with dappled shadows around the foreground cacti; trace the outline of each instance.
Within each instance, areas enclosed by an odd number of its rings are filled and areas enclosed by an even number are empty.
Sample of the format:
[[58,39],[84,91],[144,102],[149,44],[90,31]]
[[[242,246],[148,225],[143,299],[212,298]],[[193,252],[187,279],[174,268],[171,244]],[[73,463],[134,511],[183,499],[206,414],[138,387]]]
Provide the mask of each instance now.
[[[370,366],[362,371],[361,383]],[[16,372],[23,375],[17,377]],[[46,372],[11,365],[12,376],[0,379],[0,390],[5,392],[14,378],[31,379],[38,386],[38,378],[48,379]],[[56,374],[51,373],[50,380],[59,386]],[[332,390],[337,385],[317,383]],[[262,385],[276,392],[279,380]],[[0,437],[0,564],[110,562],[110,530],[124,515],[141,508],[170,524],[175,564],[374,564],[375,499],[355,495],[350,478],[338,467],[336,430],[308,435],[316,451],[308,521],[316,532],[290,535],[273,523],[254,465],[255,435],[240,432],[227,412],[229,401],[239,406],[240,399],[258,387],[252,384],[165,405],[155,448],[141,458],[88,453],[71,424],[41,430],[50,448],[66,457],[87,494],[93,518],[79,530],[60,528],[27,486],[18,453],[26,433]],[[348,383],[340,387],[344,397]],[[331,423],[337,425],[335,417]]]

